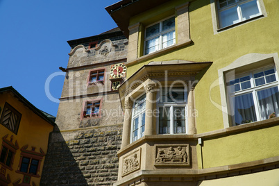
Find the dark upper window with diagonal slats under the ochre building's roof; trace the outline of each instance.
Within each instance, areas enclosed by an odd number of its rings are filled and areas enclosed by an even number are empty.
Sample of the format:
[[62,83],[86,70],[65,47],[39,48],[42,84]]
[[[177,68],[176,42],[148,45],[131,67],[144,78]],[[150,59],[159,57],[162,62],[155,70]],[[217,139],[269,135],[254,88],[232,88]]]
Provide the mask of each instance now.
[[17,134],[21,118],[22,114],[6,102],[1,115],[0,124],[11,130],[12,133]]

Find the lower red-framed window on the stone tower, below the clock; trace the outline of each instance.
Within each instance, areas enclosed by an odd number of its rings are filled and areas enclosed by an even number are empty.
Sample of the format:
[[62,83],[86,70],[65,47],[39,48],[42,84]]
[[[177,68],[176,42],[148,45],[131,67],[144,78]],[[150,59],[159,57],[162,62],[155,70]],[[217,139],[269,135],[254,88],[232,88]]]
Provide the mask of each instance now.
[[90,101],[83,101],[83,110],[81,119],[90,117],[101,117],[101,102],[102,99],[94,99]]

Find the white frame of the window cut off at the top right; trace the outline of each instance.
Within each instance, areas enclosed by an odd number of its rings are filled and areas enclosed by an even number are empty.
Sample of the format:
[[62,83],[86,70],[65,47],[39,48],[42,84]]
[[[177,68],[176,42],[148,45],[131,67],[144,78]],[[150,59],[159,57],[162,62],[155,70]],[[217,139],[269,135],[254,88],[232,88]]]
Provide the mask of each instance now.
[[[229,10],[231,8],[237,7],[238,22],[235,23],[235,24],[238,24],[240,22],[244,22],[246,20],[249,20],[249,19],[245,19],[245,20],[242,19],[242,10],[241,10],[240,6],[242,6],[245,3],[251,2],[251,1],[256,1],[257,9],[259,10],[259,15],[256,15],[255,17],[258,17],[258,16],[262,15],[262,10],[261,10],[261,6],[260,6],[259,0],[235,0],[235,1],[236,1],[235,3],[232,3],[230,5],[227,5],[227,6],[224,6],[224,7],[220,8],[219,0],[217,0],[217,10],[218,10],[218,17],[219,17],[219,28],[226,28],[227,27],[227,26],[221,27],[221,12],[223,12],[224,10]],[[250,19],[253,19],[253,18],[254,17],[251,17]],[[232,26],[232,25],[234,25],[234,24],[230,24],[228,26]]]

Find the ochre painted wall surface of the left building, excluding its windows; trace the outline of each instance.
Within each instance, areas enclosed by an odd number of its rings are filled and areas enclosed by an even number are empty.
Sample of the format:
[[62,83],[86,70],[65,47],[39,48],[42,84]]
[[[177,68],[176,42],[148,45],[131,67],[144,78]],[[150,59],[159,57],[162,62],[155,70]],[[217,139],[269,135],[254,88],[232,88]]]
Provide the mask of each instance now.
[[[14,140],[12,142],[14,142],[15,144],[15,140],[17,140],[17,143],[19,144],[19,149],[15,153],[14,162],[12,164],[13,171],[10,171],[9,169],[6,170],[6,176],[7,174],[9,174],[12,183],[14,183],[18,179],[22,180],[24,176],[23,174],[15,173],[17,167],[20,166],[20,149],[22,148],[22,146],[28,144],[27,150],[31,150],[31,146],[34,146],[36,148],[35,152],[40,153],[41,148],[42,151],[44,151],[44,153],[47,153],[49,133],[51,133],[51,131],[53,130],[53,126],[51,126],[51,124],[49,124],[41,117],[37,116],[32,110],[28,109],[11,93],[4,93],[0,95],[1,114],[3,112],[5,102],[8,102],[10,105],[12,105],[13,108],[15,108],[22,114],[22,119],[19,124],[19,130],[17,132],[17,135],[8,130],[8,128],[0,125],[0,144],[2,144],[2,137],[7,134],[8,140],[10,140],[10,136],[13,135]],[[40,165],[40,176],[42,174],[43,162],[44,159],[42,161],[42,164]],[[32,182],[34,182],[36,185],[40,185],[40,178],[31,177],[31,184]],[[10,183],[10,185],[12,185],[12,183]]]

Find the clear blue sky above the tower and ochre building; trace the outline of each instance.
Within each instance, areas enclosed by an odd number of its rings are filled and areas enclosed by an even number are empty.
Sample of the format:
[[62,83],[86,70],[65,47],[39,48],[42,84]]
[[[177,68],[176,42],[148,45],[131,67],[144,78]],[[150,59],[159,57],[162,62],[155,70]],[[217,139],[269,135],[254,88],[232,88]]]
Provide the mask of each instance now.
[[[68,40],[117,27],[105,10],[116,2],[0,0],[0,87],[14,87],[37,108],[56,116],[58,103],[44,90],[47,78],[67,67]],[[53,98],[60,98],[64,78],[51,79]]]

